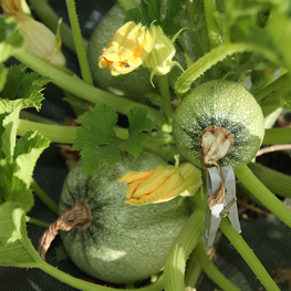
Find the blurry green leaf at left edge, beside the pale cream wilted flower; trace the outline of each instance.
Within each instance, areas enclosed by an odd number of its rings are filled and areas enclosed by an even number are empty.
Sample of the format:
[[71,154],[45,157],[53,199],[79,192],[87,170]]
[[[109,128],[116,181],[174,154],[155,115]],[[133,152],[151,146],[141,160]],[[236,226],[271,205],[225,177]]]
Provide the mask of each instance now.
[[12,18],[0,15],[0,62],[24,49],[24,39]]

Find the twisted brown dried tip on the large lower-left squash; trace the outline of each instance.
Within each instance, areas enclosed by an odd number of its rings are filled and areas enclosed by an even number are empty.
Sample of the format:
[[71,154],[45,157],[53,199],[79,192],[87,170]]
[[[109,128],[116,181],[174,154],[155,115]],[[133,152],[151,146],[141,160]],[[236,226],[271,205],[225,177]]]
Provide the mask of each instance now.
[[58,235],[58,230],[69,231],[77,228],[84,231],[90,227],[92,215],[87,202],[84,199],[76,201],[70,209],[63,211],[42,235],[38,249],[41,258],[45,261],[45,253]]

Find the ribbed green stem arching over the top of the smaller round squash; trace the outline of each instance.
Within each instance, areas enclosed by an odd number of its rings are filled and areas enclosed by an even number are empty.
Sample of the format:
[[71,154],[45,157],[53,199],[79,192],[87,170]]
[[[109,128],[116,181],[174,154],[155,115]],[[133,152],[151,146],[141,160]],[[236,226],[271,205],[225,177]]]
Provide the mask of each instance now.
[[263,50],[260,46],[248,44],[248,43],[229,43],[221,44],[202,58],[200,58],[197,62],[190,65],[177,80],[175,84],[175,91],[178,96],[183,97],[188,90],[190,89],[191,83],[204,74],[208,69],[224,60],[226,56],[231,55],[236,52],[245,52],[245,51],[254,51],[262,53],[267,59],[272,60],[273,62],[278,62],[276,55],[268,51]]

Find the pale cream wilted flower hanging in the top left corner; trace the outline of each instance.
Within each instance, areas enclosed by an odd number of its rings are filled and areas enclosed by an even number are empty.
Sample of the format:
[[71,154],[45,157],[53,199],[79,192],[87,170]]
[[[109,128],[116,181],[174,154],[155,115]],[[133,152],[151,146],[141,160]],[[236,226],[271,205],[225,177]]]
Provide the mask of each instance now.
[[25,40],[25,48],[44,61],[65,65],[61,52],[61,42],[45,25],[23,12],[25,0],[0,0],[3,12],[19,24],[19,30]]

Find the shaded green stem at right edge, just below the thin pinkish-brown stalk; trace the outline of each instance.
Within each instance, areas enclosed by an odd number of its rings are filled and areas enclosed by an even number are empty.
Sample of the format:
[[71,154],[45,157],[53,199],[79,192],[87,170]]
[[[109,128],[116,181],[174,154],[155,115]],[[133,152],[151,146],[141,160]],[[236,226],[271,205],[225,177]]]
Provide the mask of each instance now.
[[291,176],[268,168],[258,163],[250,163],[248,167],[272,193],[291,198]]

